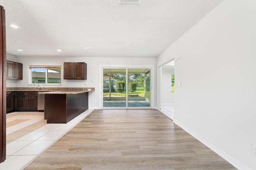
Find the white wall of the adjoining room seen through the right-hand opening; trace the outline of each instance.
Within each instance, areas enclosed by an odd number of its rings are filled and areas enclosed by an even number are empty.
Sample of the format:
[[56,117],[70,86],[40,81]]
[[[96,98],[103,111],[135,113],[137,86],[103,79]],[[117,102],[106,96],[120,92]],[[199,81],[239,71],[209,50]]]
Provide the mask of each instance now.
[[174,103],[174,94],[171,92],[172,74],[174,74],[174,66],[162,66],[161,104]]

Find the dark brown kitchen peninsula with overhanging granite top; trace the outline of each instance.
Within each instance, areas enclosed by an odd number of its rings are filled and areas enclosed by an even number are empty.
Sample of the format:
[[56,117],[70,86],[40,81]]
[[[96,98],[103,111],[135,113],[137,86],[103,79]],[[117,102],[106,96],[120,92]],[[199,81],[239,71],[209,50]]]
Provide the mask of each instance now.
[[88,109],[88,93],[94,88],[66,88],[44,94],[44,119],[47,123],[68,123]]

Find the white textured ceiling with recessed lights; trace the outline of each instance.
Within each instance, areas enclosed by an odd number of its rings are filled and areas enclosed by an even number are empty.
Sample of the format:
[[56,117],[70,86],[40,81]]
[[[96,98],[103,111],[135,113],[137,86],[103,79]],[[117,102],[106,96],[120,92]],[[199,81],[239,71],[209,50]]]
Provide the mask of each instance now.
[[222,1],[0,0],[0,5],[6,11],[6,50],[14,56],[158,57]]

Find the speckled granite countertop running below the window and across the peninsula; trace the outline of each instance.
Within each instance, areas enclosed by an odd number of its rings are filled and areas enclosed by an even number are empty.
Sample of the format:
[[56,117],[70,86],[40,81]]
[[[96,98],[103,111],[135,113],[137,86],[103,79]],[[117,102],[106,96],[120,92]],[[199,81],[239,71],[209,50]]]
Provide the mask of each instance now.
[[[91,90],[88,90],[91,89]],[[30,87],[7,87],[6,91],[37,91],[38,94],[78,94],[95,91],[95,88],[30,88]]]

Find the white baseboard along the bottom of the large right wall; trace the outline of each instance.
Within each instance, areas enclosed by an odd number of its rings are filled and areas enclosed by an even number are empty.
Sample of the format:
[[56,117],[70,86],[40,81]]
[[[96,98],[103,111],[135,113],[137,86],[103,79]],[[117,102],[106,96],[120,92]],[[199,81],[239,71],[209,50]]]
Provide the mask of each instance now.
[[214,145],[211,141],[208,139],[202,137],[195,131],[192,131],[190,128],[185,126],[184,124],[180,123],[176,119],[173,121],[176,125],[184,129],[186,132],[188,132],[190,135],[195,137],[198,141],[202,142],[204,145],[206,145],[208,148],[216,152],[218,155],[220,155],[222,158],[224,158],[226,161],[228,161],[230,164],[232,164],[234,167],[238,168],[238,170],[252,170],[248,166],[244,165],[240,161],[238,161],[236,158],[231,156],[230,154],[226,153],[224,150],[220,149],[218,146]]

